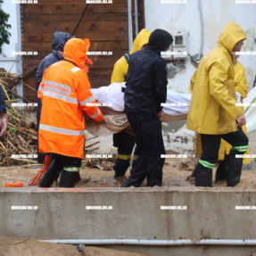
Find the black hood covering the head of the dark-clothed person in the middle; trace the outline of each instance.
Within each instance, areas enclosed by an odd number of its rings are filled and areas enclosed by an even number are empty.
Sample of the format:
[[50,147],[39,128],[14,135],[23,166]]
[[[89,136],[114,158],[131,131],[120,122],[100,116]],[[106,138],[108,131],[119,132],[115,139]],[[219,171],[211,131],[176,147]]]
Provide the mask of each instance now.
[[166,51],[169,45],[172,44],[172,42],[173,38],[171,37],[169,32],[163,29],[155,29],[151,33],[146,47],[152,49],[157,53],[161,53]]

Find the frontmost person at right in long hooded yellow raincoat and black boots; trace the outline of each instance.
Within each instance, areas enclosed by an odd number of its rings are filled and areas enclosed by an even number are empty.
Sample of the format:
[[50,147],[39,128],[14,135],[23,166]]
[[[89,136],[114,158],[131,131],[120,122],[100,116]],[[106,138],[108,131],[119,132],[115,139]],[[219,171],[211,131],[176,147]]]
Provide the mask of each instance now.
[[246,36],[235,22],[222,30],[218,45],[202,57],[191,79],[193,95],[186,128],[201,135],[202,156],[194,169],[195,186],[212,186],[212,168],[218,161],[220,140],[233,147],[227,156],[227,186],[240,181],[248,138],[242,130],[243,108],[235,106],[233,52],[239,52]]

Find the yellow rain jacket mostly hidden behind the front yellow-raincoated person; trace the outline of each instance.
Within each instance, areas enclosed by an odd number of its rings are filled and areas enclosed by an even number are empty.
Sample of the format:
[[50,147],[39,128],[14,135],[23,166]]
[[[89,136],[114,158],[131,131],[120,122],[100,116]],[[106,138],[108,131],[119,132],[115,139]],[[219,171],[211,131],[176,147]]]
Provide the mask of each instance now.
[[[241,95],[241,102],[243,103],[243,100],[247,96],[247,91],[248,91],[248,84],[245,76],[245,69],[240,62],[235,62],[234,70],[235,70],[235,91]],[[247,136],[246,126],[244,125],[242,129]],[[223,139],[221,140],[221,145],[219,147],[219,161],[224,160],[225,154],[228,154],[231,148],[232,148],[232,145],[228,144]],[[248,151],[244,154],[249,154],[249,153],[250,151],[248,148]],[[243,163],[244,164],[250,163],[250,158],[244,158]]]

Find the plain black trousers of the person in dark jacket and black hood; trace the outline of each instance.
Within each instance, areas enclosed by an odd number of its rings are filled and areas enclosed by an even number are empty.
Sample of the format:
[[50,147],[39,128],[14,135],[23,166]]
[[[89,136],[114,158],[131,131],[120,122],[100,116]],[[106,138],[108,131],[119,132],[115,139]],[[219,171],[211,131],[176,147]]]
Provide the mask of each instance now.
[[140,186],[147,177],[147,186],[161,186],[162,167],[165,154],[161,121],[157,113],[127,113],[128,121],[135,133],[139,158],[131,169],[128,186]]

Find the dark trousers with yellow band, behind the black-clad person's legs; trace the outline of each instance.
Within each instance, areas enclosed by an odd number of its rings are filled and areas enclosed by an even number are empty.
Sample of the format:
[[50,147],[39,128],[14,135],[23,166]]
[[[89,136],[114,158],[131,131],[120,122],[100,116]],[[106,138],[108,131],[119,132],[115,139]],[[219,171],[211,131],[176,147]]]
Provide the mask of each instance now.
[[[135,145],[135,137],[128,135],[124,131],[120,131],[113,135],[113,145],[118,148],[118,158],[113,166],[115,177],[125,175],[128,167],[130,166],[131,154]],[[133,166],[136,163],[137,149],[134,153]]]

